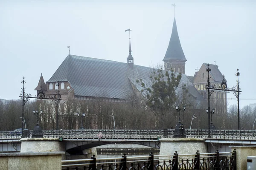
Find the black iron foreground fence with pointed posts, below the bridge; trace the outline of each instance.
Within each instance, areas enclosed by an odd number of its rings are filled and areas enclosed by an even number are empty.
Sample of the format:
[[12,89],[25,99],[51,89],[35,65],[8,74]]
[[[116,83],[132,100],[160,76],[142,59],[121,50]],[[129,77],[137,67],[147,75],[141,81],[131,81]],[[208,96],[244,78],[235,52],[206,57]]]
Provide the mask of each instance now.
[[233,152],[63,160],[62,170],[236,170]]

